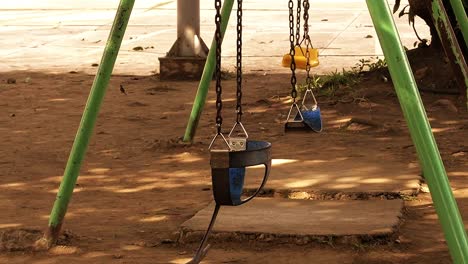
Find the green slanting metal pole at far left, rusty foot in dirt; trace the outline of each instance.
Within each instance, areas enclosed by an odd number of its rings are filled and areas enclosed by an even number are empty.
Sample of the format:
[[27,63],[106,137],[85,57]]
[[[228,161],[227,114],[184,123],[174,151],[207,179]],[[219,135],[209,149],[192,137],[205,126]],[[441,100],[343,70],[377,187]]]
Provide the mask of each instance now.
[[49,248],[57,241],[134,3],[135,0],[120,1],[104,54],[86,103],[80,127],[78,128],[75,142],[68,158],[63,180],[50,214],[49,227],[44,238],[41,239],[42,242],[38,241],[37,245],[39,247]]

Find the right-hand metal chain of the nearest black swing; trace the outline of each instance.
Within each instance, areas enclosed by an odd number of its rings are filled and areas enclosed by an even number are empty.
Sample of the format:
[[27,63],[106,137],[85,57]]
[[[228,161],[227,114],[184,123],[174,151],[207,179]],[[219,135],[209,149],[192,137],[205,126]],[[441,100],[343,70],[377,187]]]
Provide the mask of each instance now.
[[237,0],[237,119],[242,120],[242,0]]

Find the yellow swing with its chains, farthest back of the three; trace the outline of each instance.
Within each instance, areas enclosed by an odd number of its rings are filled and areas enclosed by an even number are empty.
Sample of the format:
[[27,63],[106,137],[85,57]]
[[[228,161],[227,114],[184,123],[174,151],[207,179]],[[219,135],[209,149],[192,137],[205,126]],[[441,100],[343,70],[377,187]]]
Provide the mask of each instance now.
[[[307,6],[306,6],[307,2]],[[309,13],[309,1],[304,2],[304,19],[305,16]],[[310,65],[310,67],[317,67],[320,62],[319,62],[319,52],[318,49],[314,48],[312,44],[306,48],[302,47],[302,44],[304,41],[306,41],[306,33],[308,36],[308,24],[307,22],[304,23],[304,36],[301,40],[301,0],[297,0],[297,12],[296,12],[296,36],[295,36],[295,45],[294,45],[294,55],[291,55],[291,53],[285,54],[283,56],[283,60],[281,61],[281,64],[283,67],[290,67],[292,60],[294,59],[296,63],[296,67],[298,69],[305,70],[307,68],[307,64]],[[289,16],[290,20],[289,21],[289,30],[291,32],[291,35],[293,36],[292,38],[294,39],[294,3],[292,1],[289,2]],[[307,60],[307,53],[309,54],[309,60]]]

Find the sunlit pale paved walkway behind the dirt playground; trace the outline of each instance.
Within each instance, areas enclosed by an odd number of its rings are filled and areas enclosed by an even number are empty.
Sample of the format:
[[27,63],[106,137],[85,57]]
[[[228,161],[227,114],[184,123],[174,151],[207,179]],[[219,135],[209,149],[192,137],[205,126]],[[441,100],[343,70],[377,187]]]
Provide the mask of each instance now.
[[[0,72],[10,70],[85,71],[95,73],[118,0],[17,0],[0,7]],[[265,6],[268,3],[268,6]],[[392,4],[392,3],[391,3]],[[244,52],[247,71],[287,72],[280,67],[288,49],[286,1],[245,1]],[[403,5],[402,5],[403,6]],[[213,1],[201,0],[201,35],[213,35]],[[397,19],[402,40],[416,37],[407,17]],[[424,22],[417,26],[428,37]],[[321,52],[319,72],[352,67],[361,58],[382,56],[363,0],[313,0],[312,39]],[[224,47],[225,68],[233,69],[235,20]],[[372,36],[372,37],[370,37]],[[159,71],[176,38],[175,0],[138,0],[116,64],[115,73],[146,75]],[[136,46],[145,48],[133,51]]]

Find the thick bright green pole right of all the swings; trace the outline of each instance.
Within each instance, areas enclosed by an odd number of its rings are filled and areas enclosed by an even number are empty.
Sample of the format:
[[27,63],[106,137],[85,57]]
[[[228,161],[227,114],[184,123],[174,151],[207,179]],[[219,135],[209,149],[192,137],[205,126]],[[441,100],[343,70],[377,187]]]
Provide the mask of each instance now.
[[416,146],[453,263],[468,263],[468,239],[465,226],[450,188],[447,173],[390,7],[385,0],[367,0],[367,6]]

